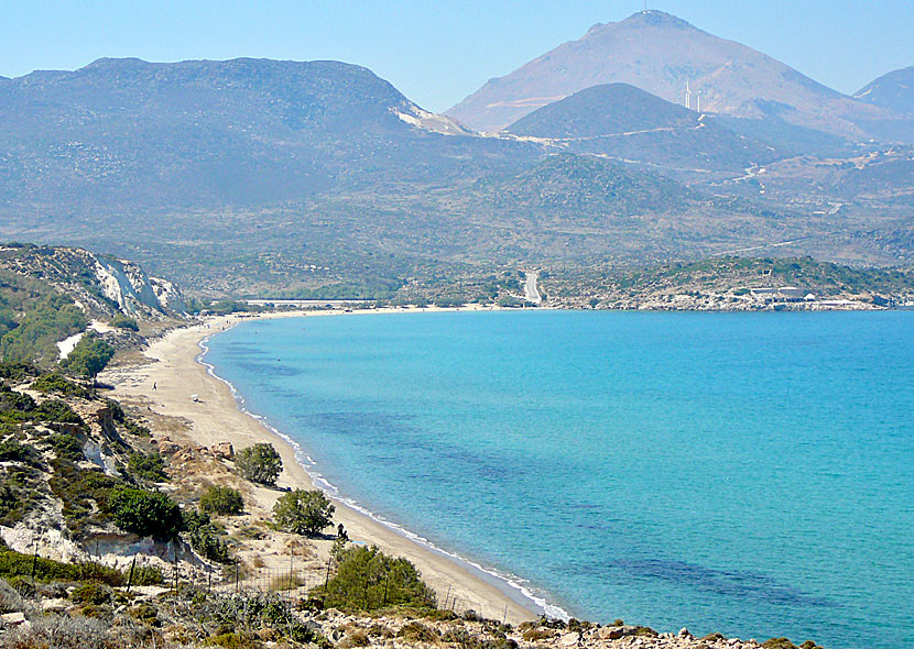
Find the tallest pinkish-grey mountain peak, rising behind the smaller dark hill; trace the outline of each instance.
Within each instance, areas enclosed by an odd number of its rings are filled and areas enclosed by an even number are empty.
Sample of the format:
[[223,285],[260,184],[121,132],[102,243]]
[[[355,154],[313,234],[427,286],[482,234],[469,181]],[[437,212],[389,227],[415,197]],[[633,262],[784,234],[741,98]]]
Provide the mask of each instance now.
[[700,101],[705,112],[783,120],[858,139],[867,136],[858,120],[885,117],[770,56],[653,10],[592,26],[584,37],[491,79],[446,114],[499,131],[547,103],[611,82],[693,109]]

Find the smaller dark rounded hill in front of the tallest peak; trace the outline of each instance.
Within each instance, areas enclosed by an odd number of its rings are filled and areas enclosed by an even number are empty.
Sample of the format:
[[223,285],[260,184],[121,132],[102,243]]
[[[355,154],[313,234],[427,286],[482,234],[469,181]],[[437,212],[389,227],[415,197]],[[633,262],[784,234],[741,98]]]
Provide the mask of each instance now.
[[771,146],[628,84],[575,92],[521,118],[508,132],[548,139],[568,151],[699,173],[736,172],[779,155]]

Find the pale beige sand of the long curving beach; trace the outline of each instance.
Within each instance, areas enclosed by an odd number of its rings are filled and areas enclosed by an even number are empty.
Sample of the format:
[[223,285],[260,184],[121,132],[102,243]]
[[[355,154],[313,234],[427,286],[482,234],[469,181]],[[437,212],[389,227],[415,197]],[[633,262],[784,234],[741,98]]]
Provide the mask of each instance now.
[[[336,314],[341,315],[339,311]],[[317,315],[330,314],[317,312],[309,317]],[[278,485],[315,488],[297,462],[292,446],[255,418],[239,410],[229,386],[213,377],[197,362],[199,343],[237,321],[235,317],[213,318],[203,326],[171,331],[144,352],[150,362],[113,367],[100,378],[115,386],[116,398],[148,404],[160,415],[186,420],[188,435],[198,446],[211,447],[229,441],[235,449],[242,449],[255,442],[272,443],[282,455],[285,468]],[[157,387],[155,391],[153,383]],[[198,395],[199,403],[194,403],[191,395]],[[276,490],[266,488],[257,488],[253,493],[263,512],[269,512],[281,495]],[[418,543],[344,503],[337,501],[336,506],[335,522],[342,522],[351,539],[377,544],[384,552],[410,559],[422,572],[423,579],[438,592],[439,601],[443,602],[449,592],[449,601],[456,597],[460,610],[472,608],[494,619],[507,616],[514,624],[540,615],[535,604],[523,597],[520,591],[509,595],[505,591],[513,588],[500,590],[481,571]]]

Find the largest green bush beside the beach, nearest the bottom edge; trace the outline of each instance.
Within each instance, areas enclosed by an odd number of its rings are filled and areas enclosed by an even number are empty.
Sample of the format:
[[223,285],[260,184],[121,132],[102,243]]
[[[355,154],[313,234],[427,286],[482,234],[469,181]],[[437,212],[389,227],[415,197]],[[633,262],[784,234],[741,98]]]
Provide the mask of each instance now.
[[420,578],[415,565],[364,546],[344,550],[336,575],[315,588],[327,607],[344,610],[377,610],[401,605],[435,608],[435,592]]

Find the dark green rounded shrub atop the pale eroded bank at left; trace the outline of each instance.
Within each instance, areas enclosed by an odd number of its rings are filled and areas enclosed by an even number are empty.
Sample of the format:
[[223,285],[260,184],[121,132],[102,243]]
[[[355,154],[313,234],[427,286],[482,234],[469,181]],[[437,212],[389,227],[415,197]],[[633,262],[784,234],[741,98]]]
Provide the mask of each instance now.
[[115,490],[108,507],[115,525],[140,537],[170,541],[184,529],[181,507],[165,494],[145,490]]

